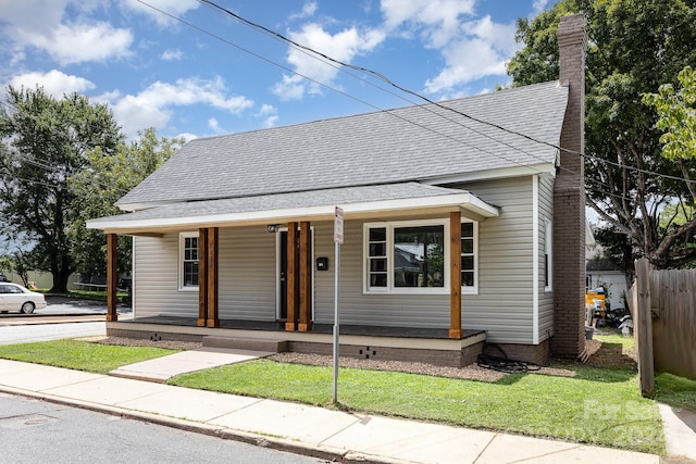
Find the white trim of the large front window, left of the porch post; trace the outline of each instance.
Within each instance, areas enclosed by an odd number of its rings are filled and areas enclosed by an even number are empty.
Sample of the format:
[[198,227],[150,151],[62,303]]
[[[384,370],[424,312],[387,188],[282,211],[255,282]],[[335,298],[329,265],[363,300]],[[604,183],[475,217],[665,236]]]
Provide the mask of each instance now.
[[[444,285],[443,287],[395,287],[394,286],[394,229],[398,227],[418,227],[418,226],[443,226],[443,240],[445,256],[449,256],[449,220],[420,220],[420,221],[398,221],[398,222],[380,222],[364,223],[362,225],[362,292],[363,294],[449,294],[449,259],[445,259]],[[370,287],[368,285],[368,274],[370,272],[369,252],[370,252],[370,229],[386,228],[387,233],[387,286]]]

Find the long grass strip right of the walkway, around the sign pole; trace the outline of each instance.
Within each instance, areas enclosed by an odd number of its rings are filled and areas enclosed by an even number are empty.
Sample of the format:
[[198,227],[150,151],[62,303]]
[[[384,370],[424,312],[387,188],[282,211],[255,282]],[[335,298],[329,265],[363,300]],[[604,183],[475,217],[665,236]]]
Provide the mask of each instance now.
[[[663,454],[656,404],[629,371],[573,366],[575,377],[507,375],[496,383],[341,368],[348,410],[554,437]],[[332,368],[259,360],[177,376],[170,384],[332,406]]]

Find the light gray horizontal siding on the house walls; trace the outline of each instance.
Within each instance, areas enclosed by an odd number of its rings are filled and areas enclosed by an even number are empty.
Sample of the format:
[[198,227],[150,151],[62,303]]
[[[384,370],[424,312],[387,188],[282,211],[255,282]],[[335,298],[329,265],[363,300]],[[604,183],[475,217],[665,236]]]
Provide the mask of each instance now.
[[[478,225],[478,293],[462,296],[464,328],[487,331],[489,341],[533,341],[533,246],[531,177],[462,186],[501,208],[499,217]],[[544,180],[540,191],[551,184]],[[545,193],[546,195],[546,193]],[[539,223],[550,203],[539,204]],[[440,216],[442,217],[442,216]],[[410,217],[413,218],[413,217]],[[403,218],[407,220],[407,218]],[[378,221],[378,220],[375,220]],[[399,221],[394,218],[390,221]],[[363,224],[346,221],[340,248],[340,322],[375,326],[449,327],[449,294],[363,293]],[[313,223],[314,258],[326,256],[328,272],[314,271],[314,321],[334,319],[333,222]],[[539,234],[543,266],[544,227]],[[221,318],[273,321],[276,311],[276,236],[264,227],[220,231]],[[196,316],[198,292],[177,289],[178,235],[136,239],[136,311],[138,316]],[[552,327],[552,299],[544,293],[539,269],[539,331]],[[543,340],[545,338],[540,337]]]

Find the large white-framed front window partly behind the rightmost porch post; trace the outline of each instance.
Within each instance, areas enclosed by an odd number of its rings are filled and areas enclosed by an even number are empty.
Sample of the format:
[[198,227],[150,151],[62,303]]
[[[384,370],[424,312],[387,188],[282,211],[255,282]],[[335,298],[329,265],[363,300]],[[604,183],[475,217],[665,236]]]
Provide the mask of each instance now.
[[[477,223],[461,223],[462,292],[477,289]],[[366,223],[366,293],[448,293],[449,221]]]

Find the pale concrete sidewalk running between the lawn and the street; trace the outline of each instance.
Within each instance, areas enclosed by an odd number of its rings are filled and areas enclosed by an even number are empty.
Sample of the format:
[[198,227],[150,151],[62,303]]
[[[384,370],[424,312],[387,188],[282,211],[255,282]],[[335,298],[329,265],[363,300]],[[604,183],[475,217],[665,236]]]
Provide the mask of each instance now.
[[0,360],[0,391],[344,463],[659,463],[657,455]]

